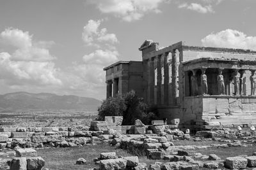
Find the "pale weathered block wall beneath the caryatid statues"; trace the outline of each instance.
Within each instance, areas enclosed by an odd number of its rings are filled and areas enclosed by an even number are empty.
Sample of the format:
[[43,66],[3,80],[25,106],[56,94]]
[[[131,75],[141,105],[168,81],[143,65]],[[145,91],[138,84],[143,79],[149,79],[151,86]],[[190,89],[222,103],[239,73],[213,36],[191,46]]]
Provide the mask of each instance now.
[[[191,96],[184,98],[183,121],[207,125],[255,125],[256,97]],[[204,125],[204,124],[202,124]]]

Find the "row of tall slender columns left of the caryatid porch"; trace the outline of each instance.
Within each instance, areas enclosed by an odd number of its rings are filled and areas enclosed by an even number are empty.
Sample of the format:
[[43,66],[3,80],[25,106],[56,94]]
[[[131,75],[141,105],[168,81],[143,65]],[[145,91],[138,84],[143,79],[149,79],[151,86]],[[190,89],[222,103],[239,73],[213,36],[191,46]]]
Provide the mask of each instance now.
[[[168,60],[168,55],[170,52],[157,55],[148,60],[143,61],[144,65],[144,80],[145,80],[145,91],[144,98],[149,104],[175,104],[175,97],[179,96],[179,50],[172,52],[172,59]],[[169,65],[172,64],[172,83],[169,83]],[[164,71],[162,75],[161,68],[163,67]],[[157,69],[157,83],[155,86],[155,68]],[[163,89],[162,89],[162,78]],[[156,87],[156,93],[155,93]],[[169,96],[171,95],[169,100]],[[163,100],[162,100],[163,96]],[[156,98],[156,103],[155,103]]]

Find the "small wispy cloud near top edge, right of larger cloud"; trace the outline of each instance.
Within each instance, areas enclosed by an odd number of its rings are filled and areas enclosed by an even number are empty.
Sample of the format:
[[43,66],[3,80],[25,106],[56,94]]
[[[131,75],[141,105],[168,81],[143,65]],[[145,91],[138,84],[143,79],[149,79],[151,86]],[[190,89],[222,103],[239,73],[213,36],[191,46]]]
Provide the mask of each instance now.
[[179,8],[186,8],[188,10],[193,10],[197,11],[198,13],[214,13],[214,10],[212,10],[211,4],[202,6],[201,4],[198,3],[191,3],[191,4],[180,4]]

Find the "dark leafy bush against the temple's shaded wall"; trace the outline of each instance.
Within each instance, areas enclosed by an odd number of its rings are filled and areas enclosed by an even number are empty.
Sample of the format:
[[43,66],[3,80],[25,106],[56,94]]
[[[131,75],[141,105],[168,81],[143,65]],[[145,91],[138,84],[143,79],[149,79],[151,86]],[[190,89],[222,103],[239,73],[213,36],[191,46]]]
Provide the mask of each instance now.
[[106,116],[122,116],[126,110],[124,99],[121,96],[109,97],[102,101],[98,108],[99,117],[97,120],[104,120]]

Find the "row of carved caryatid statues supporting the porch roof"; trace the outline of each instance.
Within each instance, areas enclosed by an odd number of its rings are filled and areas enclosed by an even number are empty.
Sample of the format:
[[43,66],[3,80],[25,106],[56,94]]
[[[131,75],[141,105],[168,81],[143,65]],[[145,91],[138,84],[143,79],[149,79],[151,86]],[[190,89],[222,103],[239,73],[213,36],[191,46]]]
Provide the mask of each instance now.
[[[208,84],[207,84],[207,75],[205,74],[207,68],[202,68],[201,75],[200,75],[200,83],[202,88],[202,95],[208,94]],[[191,76],[191,89],[192,89],[192,96],[198,95],[198,81],[196,76],[196,71],[198,69],[191,70],[193,75]],[[233,80],[234,83],[234,95],[243,95],[246,96],[246,76],[245,76],[245,70],[239,70],[239,69],[233,69],[233,74],[231,76],[231,80]],[[250,84],[251,84],[251,95],[255,95],[256,91],[256,75],[255,70],[250,70]],[[227,92],[225,92],[225,81],[223,76],[223,69],[218,69],[218,75],[216,77],[217,80],[217,94],[218,95],[224,95]],[[239,74],[240,76],[239,76]]]

